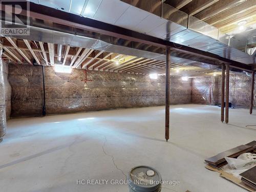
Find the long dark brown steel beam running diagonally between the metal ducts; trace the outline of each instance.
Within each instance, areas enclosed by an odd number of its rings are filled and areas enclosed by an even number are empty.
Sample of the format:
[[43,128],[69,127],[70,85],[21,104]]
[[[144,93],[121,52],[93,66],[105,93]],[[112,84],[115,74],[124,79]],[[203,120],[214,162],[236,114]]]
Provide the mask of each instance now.
[[[194,0],[196,1],[196,0]],[[193,1],[193,2],[194,2]],[[198,6],[201,7],[201,10],[204,9],[207,6],[210,6],[210,4],[216,3],[218,0],[215,1],[206,1],[206,0],[197,0]],[[199,3],[204,2],[204,3]],[[192,11],[190,13],[195,12],[195,7],[190,6],[191,3],[187,4],[184,7],[192,7]],[[27,2],[19,2],[18,5],[26,12],[27,8]],[[30,16],[34,19],[46,19],[51,18],[53,23],[57,23],[59,25],[65,25],[69,27],[79,26],[79,28],[83,30],[89,30],[91,32],[100,33],[102,35],[112,36],[115,38],[122,38],[126,40],[132,40],[137,42],[142,42],[143,44],[152,45],[160,48],[166,48],[170,47],[172,52],[180,58],[183,58],[184,54],[180,53],[186,53],[185,56],[194,56],[190,57],[194,61],[198,62],[205,62],[209,63],[210,65],[219,66],[221,63],[229,64],[230,67],[236,68],[236,69],[242,69],[248,72],[252,71],[252,67],[249,65],[246,65],[245,63],[231,60],[229,58],[225,58],[216,54],[212,54],[203,50],[195,49],[189,46],[180,46],[179,44],[175,44],[172,41],[160,39],[153,36],[148,36],[146,34],[142,34],[139,32],[135,32],[129,29],[123,29],[118,26],[114,26],[111,24],[102,25],[102,22],[99,22],[97,20],[88,18],[88,17],[80,17],[79,15],[71,14],[65,11],[56,10],[54,8],[46,7],[43,5],[38,5],[34,3],[29,3],[30,5]],[[183,8],[184,8],[183,7]],[[183,9],[182,8],[182,9]],[[199,7],[198,7],[199,8]],[[197,8],[197,12],[198,12]],[[182,10],[181,9],[181,10]],[[21,13],[22,14],[22,13]],[[46,25],[46,24],[44,24]],[[191,60],[190,59],[190,60]]]

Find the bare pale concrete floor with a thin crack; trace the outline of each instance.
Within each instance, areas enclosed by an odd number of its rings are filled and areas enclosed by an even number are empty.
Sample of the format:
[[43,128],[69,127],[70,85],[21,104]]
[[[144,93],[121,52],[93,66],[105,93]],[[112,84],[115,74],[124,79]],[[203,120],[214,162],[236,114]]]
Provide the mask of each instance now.
[[137,165],[179,180],[162,191],[246,191],[207,170],[204,159],[256,138],[255,112],[196,104],[170,107],[171,139],[164,140],[164,106],[20,118],[8,121],[0,144],[1,191],[127,191],[127,185],[77,185],[77,180],[124,179]]

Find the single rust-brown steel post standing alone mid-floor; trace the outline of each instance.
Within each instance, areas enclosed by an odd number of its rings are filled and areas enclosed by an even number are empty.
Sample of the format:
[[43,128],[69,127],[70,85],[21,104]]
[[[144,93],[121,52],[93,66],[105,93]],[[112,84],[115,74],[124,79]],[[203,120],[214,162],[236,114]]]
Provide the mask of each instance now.
[[165,139],[169,139],[170,115],[170,48],[166,48],[166,74],[165,74]]

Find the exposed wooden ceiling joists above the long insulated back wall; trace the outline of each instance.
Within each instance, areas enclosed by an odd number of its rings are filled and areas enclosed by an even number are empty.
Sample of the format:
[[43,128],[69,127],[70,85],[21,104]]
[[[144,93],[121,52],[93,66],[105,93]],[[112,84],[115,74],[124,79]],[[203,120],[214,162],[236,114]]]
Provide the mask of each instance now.
[[[125,41],[124,43],[129,44],[130,42]],[[21,40],[10,37],[2,37],[2,43],[0,42],[0,46],[5,50],[3,58],[9,62],[24,63],[26,60],[31,64],[31,58],[33,56],[37,63],[40,63],[41,65],[48,65],[48,63],[50,63],[50,65],[53,66],[54,59],[57,57],[57,55],[55,55],[57,54],[55,50],[57,45],[52,43],[47,43],[46,47],[45,45],[46,44],[41,41],[33,41],[32,43],[26,39]],[[137,44],[136,46],[139,45],[140,44]],[[62,53],[61,57],[63,58],[62,65],[66,65],[66,63],[69,62],[70,66],[73,68],[79,68],[81,65],[83,69],[118,73],[165,73],[165,61],[118,53],[109,53],[87,48],[70,47],[69,45],[66,45],[65,51]],[[187,73],[190,73],[191,75],[198,75],[211,73],[215,70],[204,69],[201,67],[201,63],[195,61],[183,64],[171,63],[170,66],[172,68],[172,75]],[[178,72],[177,69],[179,69],[180,72]]]

